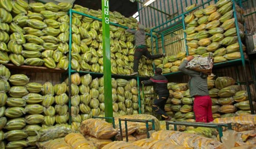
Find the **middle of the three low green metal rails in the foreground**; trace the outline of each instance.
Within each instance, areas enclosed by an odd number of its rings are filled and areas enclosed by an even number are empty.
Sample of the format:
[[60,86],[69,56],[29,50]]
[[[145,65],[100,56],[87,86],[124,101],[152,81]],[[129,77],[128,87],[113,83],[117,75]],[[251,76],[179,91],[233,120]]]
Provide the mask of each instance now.
[[146,130],[147,130],[147,138],[149,138],[149,122],[152,123],[152,130],[155,130],[155,126],[154,126],[154,120],[137,120],[137,119],[118,119],[119,121],[119,130],[120,130],[120,136],[121,136],[121,141],[123,141],[122,138],[122,124],[121,121],[124,121],[124,125],[125,125],[125,138],[126,138],[126,142],[128,142],[128,128],[127,128],[127,121],[132,121],[132,122],[139,122],[139,123],[146,123]]

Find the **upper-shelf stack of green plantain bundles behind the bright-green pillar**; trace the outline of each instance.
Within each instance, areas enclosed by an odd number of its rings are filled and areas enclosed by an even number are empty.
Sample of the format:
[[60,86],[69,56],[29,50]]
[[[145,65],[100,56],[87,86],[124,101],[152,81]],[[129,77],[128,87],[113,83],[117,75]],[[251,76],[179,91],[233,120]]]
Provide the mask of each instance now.
[[[79,5],[74,5],[73,10],[102,18],[101,11],[89,10]],[[125,18],[119,12],[110,12],[110,21],[129,28],[138,27],[136,19]],[[110,25],[111,72],[113,74],[130,75],[132,73],[134,40],[134,35],[125,32],[124,28]],[[150,38],[146,41],[147,46],[151,48]],[[72,69],[103,73],[102,23],[73,13],[71,50]],[[143,57],[139,65],[139,73],[142,76],[153,75],[152,61]]]

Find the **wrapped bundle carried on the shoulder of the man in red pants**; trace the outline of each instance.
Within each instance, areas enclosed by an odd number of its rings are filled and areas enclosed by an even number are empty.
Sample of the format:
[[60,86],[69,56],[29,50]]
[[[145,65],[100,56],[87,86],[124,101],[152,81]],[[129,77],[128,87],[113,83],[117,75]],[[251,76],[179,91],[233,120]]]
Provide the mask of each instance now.
[[208,57],[194,57],[188,62],[186,68],[210,75],[213,68],[213,61],[213,54],[211,53]]

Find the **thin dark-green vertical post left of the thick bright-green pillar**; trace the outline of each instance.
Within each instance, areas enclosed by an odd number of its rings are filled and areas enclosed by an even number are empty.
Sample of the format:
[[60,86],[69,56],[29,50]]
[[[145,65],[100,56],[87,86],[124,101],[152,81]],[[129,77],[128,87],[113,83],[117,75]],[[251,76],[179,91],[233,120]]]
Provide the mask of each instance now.
[[72,9],[69,11],[70,15],[70,34],[69,34],[69,52],[68,52],[68,124],[71,124],[71,48],[72,48]]

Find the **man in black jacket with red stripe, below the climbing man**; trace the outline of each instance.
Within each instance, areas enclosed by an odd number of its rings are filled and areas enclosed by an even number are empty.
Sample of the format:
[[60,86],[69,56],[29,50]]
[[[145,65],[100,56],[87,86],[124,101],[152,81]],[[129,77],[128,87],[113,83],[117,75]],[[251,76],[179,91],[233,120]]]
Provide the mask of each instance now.
[[154,99],[152,109],[166,120],[169,120],[170,117],[164,111],[164,105],[169,97],[169,91],[167,88],[168,80],[165,76],[161,75],[161,73],[161,68],[155,68],[155,76],[151,77],[149,80],[142,81],[141,83],[145,86],[154,86],[157,98]]

